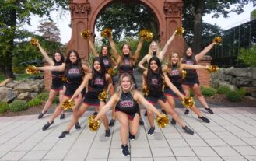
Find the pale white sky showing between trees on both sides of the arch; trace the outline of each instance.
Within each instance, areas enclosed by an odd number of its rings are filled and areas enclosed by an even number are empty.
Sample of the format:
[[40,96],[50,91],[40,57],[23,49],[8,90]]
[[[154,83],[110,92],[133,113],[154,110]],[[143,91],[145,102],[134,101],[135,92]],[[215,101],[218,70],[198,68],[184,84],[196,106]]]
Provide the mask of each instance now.
[[[244,12],[240,15],[237,15],[236,13],[230,13],[229,18],[223,18],[219,17],[218,19],[212,19],[211,15],[206,15],[203,17],[203,21],[206,23],[211,24],[217,24],[223,30],[227,30],[232,28],[233,26],[238,26],[242,23],[246,23],[250,20],[251,11],[253,11],[254,8],[252,2],[248,5],[244,6]],[[65,12],[61,16],[57,12],[53,12],[51,14],[51,19],[54,20],[54,23],[56,23],[56,26],[58,26],[58,29],[61,33],[61,43],[66,44],[71,38],[71,28],[68,26],[70,24],[70,12]],[[37,33],[37,26],[40,24],[40,21],[43,20],[42,18],[38,16],[33,16],[31,18],[31,26],[24,26],[26,30],[29,30],[31,32]],[[186,28],[186,26],[184,26]]]

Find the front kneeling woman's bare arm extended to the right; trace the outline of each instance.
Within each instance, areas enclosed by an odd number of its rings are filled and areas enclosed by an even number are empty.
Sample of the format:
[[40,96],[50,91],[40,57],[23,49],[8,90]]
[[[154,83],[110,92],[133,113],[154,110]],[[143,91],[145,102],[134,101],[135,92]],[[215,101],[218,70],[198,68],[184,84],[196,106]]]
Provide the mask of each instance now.
[[149,101],[147,101],[144,96],[142,96],[141,93],[139,93],[138,91],[135,91],[134,94],[134,99],[136,101],[139,101],[140,104],[142,104],[144,107],[146,107],[147,110],[151,110],[153,111],[153,113],[155,113],[157,116],[161,116],[161,113],[159,110],[156,110],[156,107],[154,107],[151,103],[149,103]]

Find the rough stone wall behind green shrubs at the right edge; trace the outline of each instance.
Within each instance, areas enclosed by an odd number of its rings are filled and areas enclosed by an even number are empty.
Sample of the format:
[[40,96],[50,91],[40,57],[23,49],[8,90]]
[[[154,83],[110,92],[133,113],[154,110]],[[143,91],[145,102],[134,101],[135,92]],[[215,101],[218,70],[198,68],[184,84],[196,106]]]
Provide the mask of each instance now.
[[256,68],[220,68],[211,75],[211,86],[230,86],[230,89],[244,87],[247,93],[256,93]]

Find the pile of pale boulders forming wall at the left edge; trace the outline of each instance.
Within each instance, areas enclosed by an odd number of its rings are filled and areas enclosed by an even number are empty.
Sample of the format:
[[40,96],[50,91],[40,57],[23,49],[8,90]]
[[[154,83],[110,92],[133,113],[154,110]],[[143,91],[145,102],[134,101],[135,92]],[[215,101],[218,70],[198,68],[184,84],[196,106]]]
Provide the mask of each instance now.
[[12,81],[6,79],[0,84],[0,100],[10,103],[14,99],[30,100],[44,89],[43,79],[25,79]]

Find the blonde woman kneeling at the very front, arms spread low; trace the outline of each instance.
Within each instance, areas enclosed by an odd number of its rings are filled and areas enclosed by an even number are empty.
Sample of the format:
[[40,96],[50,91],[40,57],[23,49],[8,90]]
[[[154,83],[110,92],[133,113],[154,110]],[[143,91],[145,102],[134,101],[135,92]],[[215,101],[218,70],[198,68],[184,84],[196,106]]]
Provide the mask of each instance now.
[[157,116],[161,116],[160,112],[150,104],[139,91],[135,89],[132,76],[128,73],[120,75],[117,92],[111,96],[107,104],[100,110],[100,113],[95,117],[98,120],[103,114],[115,106],[115,113],[118,122],[121,124],[121,149],[124,156],[129,156],[128,150],[128,131],[132,135],[136,135],[139,130],[139,103],[149,110],[152,110]]

